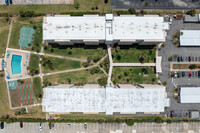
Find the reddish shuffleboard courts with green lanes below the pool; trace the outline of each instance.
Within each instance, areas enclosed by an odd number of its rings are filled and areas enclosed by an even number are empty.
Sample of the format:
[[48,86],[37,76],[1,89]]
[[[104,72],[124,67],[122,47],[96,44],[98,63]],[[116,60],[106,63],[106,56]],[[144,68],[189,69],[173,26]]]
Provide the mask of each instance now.
[[34,94],[32,89],[31,81],[25,81],[18,83],[21,103],[32,103],[34,102]]

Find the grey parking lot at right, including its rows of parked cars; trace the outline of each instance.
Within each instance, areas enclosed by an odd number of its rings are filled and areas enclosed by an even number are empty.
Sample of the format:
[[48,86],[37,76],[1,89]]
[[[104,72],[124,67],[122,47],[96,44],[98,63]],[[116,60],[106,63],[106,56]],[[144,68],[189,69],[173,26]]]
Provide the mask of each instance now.
[[168,107],[165,113],[170,116],[170,111],[174,110],[177,117],[185,117],[186,112],[190,110],[200,111],[200,104],[177,103],[174,100],[174,88],[177,86],[200,86],[198,69],[171,70],[170,56],[177,55],[176,59],[172,58],[172,63],[175,64],[198,63],[200,61],[200,47],[174,46],[173,34],[177,30],[200,30],[200,24],[183,23],[183,20],[173,20],[172,24],[170,25],[170,30],[167,31],[165,47],[159,51],[159,56],[162,56],[162,73],[159,74],[159,77],[161,82],[167,83],[167,96],[170,98],[171,102],[170,107]]

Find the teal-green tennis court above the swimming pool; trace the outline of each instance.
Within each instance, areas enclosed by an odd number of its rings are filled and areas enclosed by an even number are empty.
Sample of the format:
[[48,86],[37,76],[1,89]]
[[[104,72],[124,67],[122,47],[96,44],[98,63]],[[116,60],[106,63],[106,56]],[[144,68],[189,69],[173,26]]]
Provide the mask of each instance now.
[[20,31],[20,37],[19,37],[19,46],[32,48],[34,32],[35,30],[31,27],[22,27]]

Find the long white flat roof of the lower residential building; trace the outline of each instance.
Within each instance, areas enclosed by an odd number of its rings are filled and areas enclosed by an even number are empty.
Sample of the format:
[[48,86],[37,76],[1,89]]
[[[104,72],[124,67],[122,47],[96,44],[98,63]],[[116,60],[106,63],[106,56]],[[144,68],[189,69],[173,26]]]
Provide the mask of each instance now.
[[44,88],[43,111],[65,112],[164,112],[169,106],[165,88],[125,89]]

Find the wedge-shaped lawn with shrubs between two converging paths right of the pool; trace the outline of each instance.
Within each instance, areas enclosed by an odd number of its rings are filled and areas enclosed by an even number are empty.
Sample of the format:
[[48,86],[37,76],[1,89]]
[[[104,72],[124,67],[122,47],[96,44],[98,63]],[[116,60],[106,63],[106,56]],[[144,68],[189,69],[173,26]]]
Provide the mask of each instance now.
[[42,73],[51,73],[68,69],[81,68],[80,61],[72,61],[54,57],[42,57]]

